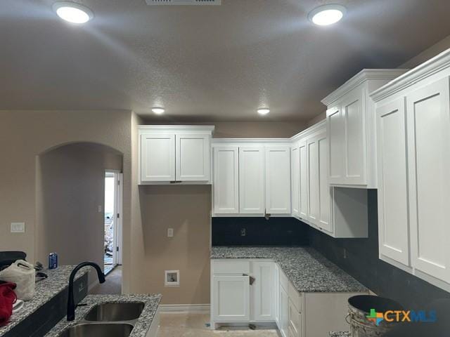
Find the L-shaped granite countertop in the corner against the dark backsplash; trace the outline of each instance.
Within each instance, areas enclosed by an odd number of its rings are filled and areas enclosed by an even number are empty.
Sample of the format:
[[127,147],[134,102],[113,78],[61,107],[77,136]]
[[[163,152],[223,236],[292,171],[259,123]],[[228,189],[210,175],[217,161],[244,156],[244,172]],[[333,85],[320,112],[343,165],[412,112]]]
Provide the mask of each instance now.
[[310,247],[213,246],[211,258],[267,258],[301,293],[359,293],[368,289]]

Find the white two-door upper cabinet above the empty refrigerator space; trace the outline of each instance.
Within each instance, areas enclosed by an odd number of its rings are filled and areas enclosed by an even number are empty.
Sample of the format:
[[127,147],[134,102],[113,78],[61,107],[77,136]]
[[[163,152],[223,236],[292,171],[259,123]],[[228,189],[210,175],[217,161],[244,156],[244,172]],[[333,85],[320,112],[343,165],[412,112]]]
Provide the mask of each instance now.
[[214,126],[139,126],[141,184],[210,183]]

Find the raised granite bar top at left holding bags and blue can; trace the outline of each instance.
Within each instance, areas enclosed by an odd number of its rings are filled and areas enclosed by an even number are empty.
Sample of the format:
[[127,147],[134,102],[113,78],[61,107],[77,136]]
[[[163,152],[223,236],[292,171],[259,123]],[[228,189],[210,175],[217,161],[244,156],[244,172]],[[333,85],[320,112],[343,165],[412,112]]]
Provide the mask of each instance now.
[[[11,320],[6,326],[0,327],[0,336],[13,329],[14,326],[18,325],[42,305],[49,302],[51,298],[63,291],[69,284],[69,276],[73,268],[75,268],[75,265],[60,265],[53,270],[41,270],[46,275],[49,275],[49,277],[37,282],[34,297],[31,300],[25,301],[23,308],[11,316]],[[75,279],[79,279],[86,272],[89,272],[89,267],[82,268],[82,270],[77,272]]]

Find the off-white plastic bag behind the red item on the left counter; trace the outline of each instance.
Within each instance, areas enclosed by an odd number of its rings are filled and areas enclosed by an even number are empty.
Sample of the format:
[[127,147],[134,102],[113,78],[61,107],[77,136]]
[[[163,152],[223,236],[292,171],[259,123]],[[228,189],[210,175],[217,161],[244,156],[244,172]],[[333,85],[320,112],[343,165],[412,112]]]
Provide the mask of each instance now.
[[34,267],[25,260],[17,260],[15,263],[0,272],[0,279],[17,284],[14,289],[20,300],[31,300],[34,296],[36,274]]

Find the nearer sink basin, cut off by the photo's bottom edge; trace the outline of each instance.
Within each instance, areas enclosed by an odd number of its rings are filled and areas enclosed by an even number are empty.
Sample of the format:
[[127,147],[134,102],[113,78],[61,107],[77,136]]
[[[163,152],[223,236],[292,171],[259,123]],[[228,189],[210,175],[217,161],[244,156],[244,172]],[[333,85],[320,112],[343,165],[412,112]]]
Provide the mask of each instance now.
[[127,323],[82,323],[64,330],[59,337],[127,337],[133,326]]

